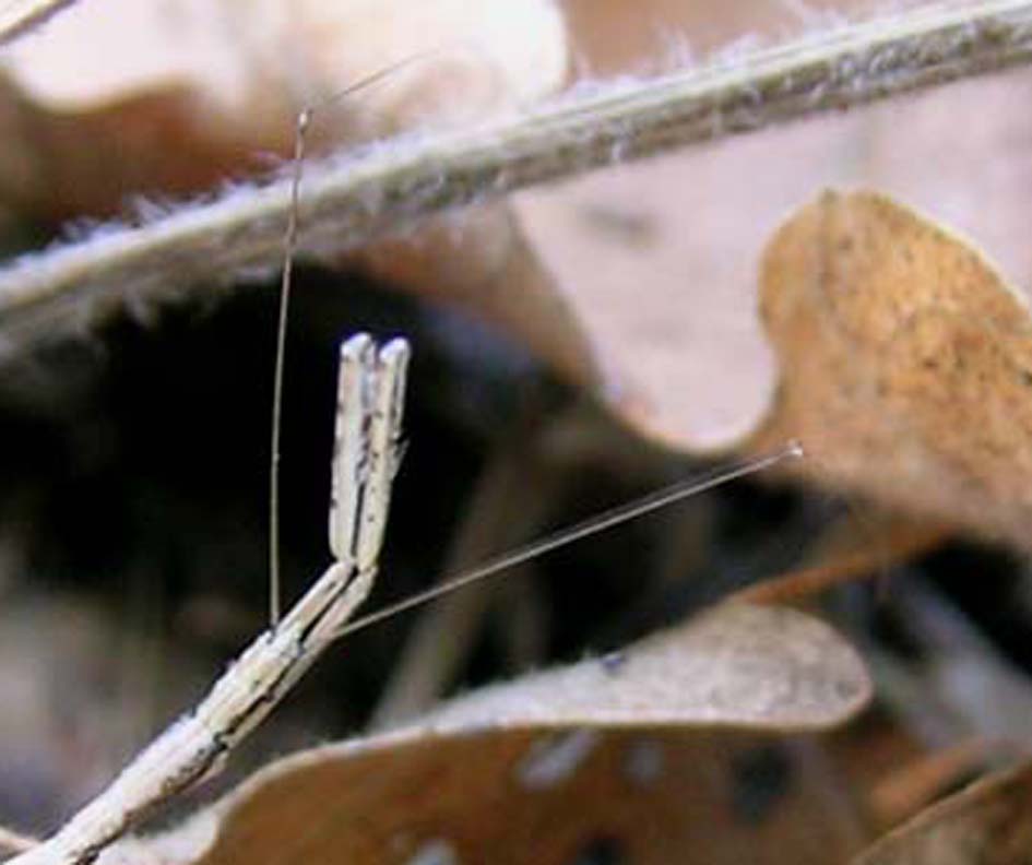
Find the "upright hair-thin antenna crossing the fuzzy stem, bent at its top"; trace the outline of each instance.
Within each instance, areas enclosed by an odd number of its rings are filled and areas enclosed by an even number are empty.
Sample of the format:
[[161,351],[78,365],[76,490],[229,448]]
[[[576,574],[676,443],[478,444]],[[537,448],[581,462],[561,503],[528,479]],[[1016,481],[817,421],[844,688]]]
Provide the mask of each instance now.
[[297,251],[298,203],[301,193],[301,174],[305,166],[305,133],[316,111],[340,102],[370,84],[398,72],[406,66],[436,56],[437,51],[423,51],[396,63],[378,69],[365,78],[348,84],[308,105],[298,112],[294,127],[294,158],[290,175],[290,212],[283,235],[283,273],[280,280],[280,315],[276,323],[276,363],[272,379],[272,436],[269,458],[269,624],[275,628],[281,617],[280,588],[280,457],[283,419],[283,370],[286,365],[286,328],[290,308],[290,286],[294,277],[294,254]]

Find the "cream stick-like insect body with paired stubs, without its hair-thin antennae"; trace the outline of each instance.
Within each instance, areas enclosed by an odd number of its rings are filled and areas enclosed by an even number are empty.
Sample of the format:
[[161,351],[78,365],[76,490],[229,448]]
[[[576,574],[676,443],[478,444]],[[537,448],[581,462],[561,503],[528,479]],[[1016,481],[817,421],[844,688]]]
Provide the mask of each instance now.
[[366,334],[341,348],[339,447],[330,509],[333,564],[261,633],[207,697],[147,747],[93,803],[22,863],[91,862],[134,819],[217,770],[334,639],[376,576],[398,467],[408,346]]

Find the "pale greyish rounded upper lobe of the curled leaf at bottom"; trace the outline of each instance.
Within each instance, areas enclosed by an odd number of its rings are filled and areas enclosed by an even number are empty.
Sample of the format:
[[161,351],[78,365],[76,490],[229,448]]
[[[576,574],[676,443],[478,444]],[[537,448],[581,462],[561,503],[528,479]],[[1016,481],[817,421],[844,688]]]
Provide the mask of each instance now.
[[726,604],[625,652],[486,688],[435,728],[657,724],[829,726],[870,697],[863,663],[819,621]]

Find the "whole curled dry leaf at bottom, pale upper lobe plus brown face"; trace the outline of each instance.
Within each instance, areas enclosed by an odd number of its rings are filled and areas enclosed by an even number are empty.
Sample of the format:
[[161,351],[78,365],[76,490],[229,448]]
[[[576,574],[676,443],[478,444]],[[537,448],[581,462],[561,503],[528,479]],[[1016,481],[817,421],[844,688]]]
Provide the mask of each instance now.
[[[858,657],[826,626],[724,605],[619,655],[281,761],[152,852],[387,863],[438,844],[460,862],[566,863],[601,844],[634,862],[712,863],[754,845],[775,858],[751,861],[779,861],[788,843],[796,861],[819,862],[863,837],[852,808],[829,801],[823,758],[791,740],[688,728],[820,728],[868,696]],[[759,789],[736,790],[736,771]]]

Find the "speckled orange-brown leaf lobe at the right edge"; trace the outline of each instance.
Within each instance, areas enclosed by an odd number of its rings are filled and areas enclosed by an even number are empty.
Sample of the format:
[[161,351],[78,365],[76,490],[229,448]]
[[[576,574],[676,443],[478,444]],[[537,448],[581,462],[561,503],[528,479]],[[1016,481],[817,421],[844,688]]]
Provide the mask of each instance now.
[[762,271],[782,382],[759,441],[798,436],[798,471],[1027,546],[1032,322],[981,253],[883,195],[828,192]]

